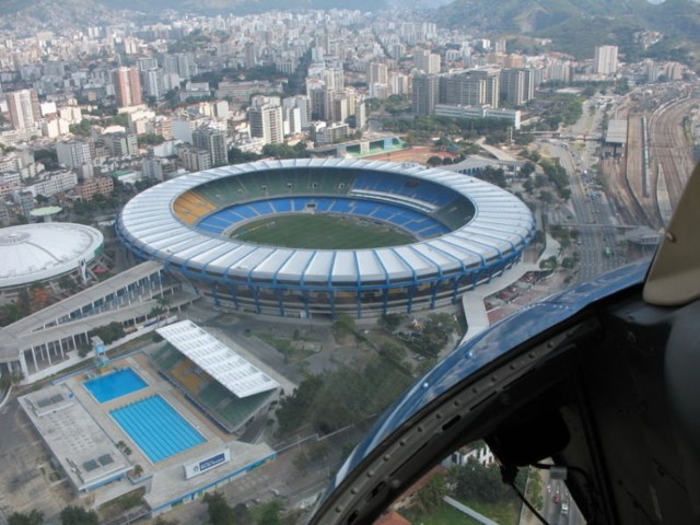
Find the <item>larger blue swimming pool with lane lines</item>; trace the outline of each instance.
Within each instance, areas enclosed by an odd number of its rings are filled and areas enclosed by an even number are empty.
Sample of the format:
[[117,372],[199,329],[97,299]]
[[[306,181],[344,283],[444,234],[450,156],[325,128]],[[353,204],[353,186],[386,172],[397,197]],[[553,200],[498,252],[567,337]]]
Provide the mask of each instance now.
[[153,463],[207,441],[161,396],[132,402],[110,413]]

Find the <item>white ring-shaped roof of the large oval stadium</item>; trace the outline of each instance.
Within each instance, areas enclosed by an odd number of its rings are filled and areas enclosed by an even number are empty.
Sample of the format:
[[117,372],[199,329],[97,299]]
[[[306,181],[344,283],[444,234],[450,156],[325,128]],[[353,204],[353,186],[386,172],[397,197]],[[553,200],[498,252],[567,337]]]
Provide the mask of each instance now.
[[[271,174],[288,167],[355,168],[430,180],[467,197],[474,203],[475,214],[453,232],[413,244],[330,250],[247,244],[184,224],[173,211],[178,196],[205,183],[245,173]],[[248,282],[265,279],[352,287],[483,267],[526,244],[535,230],[535,220],[518,198],[468,175],[383,161],[298,159],[218,167],[162,183],[127,203],[119,215],[118,229],[144,256],[186,266],[190,271]]]

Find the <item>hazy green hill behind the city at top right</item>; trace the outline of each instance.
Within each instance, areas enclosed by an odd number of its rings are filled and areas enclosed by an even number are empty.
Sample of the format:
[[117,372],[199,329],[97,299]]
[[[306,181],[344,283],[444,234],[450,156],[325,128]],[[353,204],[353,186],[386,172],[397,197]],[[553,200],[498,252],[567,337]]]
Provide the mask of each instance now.
[[551,38],[553,48],[579,59],[593,57],[594,47],[605,43],[634,60],[640,50],[633,34],[654,30],[666,38],[646,56],[700,60],[700,3],[693,0],[656,5],[646,0],[455,0],[435,10],[434,20],[448,27]]

